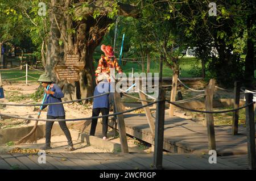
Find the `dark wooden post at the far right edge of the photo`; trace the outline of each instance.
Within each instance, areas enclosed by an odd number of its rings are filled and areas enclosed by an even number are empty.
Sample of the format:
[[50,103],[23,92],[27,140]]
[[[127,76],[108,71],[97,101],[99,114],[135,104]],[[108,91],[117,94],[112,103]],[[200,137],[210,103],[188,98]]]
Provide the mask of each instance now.
[[[253,94],[245,94],[246,104],[253,102]],[[256,169],[255,156],[255,123],[253,104],[246,107],[246,134],[247,134],[247,150],[249,169]]]

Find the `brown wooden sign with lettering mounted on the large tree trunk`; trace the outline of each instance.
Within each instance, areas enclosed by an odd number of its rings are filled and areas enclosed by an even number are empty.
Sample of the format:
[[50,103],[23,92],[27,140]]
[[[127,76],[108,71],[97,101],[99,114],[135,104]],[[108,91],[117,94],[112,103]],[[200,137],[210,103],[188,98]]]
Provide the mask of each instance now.
[[79,73],[84,69],[84,61],[79,61],[80,56],[78,54],[67,54],[65,61],[55,66],[57,79],[69,83],[79,81]]

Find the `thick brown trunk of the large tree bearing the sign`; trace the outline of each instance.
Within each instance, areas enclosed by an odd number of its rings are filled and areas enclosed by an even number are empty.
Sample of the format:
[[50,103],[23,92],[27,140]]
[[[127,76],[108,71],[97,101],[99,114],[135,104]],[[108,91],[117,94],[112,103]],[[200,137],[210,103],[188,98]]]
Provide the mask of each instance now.
[[[73,21],[72,16],[67,13],[71,2],[77,3],[75,16],[82,17],[80,21]],[[95,86],[93,52],[100,45],[102,38],[108,31],[108,25],[114,22],[108,18],[108,12],[113,11],[114,1],[98,0],[82,6],[85,1],[51,0],[52,14],[50,16],[51,27],[49,32],[48,50],[46,57],[46,73],[51,75],[64,92],[64,100],[86,98],[93,95]],[[119,14],[125,16],[138,16],[134,6],[118,3]],[[100,11],[100,16],[92,18],[94,11]],[[70,33],[75,30],[75,33]],[[80,79],[75,83],[57,80],[54,67],[65,61],[68,53],[79,54],[80,61],[84,62],[84,69],[80,72]]]

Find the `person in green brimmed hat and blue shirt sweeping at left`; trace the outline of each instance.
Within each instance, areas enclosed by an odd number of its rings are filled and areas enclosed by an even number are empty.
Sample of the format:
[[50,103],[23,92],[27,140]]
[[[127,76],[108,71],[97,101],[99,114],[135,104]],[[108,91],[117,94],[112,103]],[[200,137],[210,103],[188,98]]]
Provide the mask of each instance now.
[[[49,75],[47,74],[40,75],[38,82],[42,83],[42,86],[44,87],[45,92],[47,94],[44,104],[62,102],[61,98],[64,97],[64,94],[61,91],[60,87],[52,82],[51,77],[49,77]],[[48,85],[49,85],[49,90],[46,90],[46,87]],[[42,110],[46,107],[47,105],[43,106]],[[47,111],[47,119],[65,119],[65,110],[64,110],[63,104],[49,105],[48,111]],[[52,149],[51,148],[51,130],[52,130],[53,123],[54,121],[46,122],[46,145],[40,148],[42,150]],[[59,121],[59,125],[68,140],[68,146],[67,148],[65,148],[65,150],[66,151],[75,150],[73,148],[71,134],[69,132],[66,122]]]

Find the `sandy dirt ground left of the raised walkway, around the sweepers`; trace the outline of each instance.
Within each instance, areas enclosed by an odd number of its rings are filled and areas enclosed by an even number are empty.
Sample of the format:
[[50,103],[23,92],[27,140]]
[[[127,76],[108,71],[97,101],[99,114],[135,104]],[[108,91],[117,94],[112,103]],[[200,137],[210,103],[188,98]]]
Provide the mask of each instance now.
[[[26,83],[23,82],[3,82],[3,89],[5,98],[1,99],[0,102],[5,103],[14,103],[14,104],[27,104],[27,103],[36,103],[34,100],[30,99],[30,95],[38,90],[39,83],[32,82]],[[15,100],[15,101],[14,101]],[[81,105],[79,103],[69,103],[64,104],[66,119],[74,119],[74,118],[81,118],[81,117],[90,117],[92,116],[92,105],[86,104]],[[36,117],[38,115],[39,107],[15,107],[15,106],[1,106],[0,111],[1,113],[10,114],[10,115],[19,115],[22,117]],[[130,109],[130,107],[126,107],[126,109]],[[141,113],[143,110],[136,111],[135,113]],[[46,119],[47,109],[43,110],[40,118]],[[99,119],[98,121],[101,121]],[[28,125],[34,125],[34,121],[27,121],[27,120],[20,120],[20,119],[13,119],[9,117],[2,117],[0,121],[0,129],[12,128],[12,127],[26,127]],[[77,122],[73,122],[76,123]],[[38,124],[45,124],[45,122],[39,121]],[[79,127],[75,126],[74,129],[70,129],[72,140],[74,147],[76,148],[75,152],[106,152],[107,150],[98,149],[94,146],[84,145],[79,140]],[[120,143],[119,137],[113,137],[112,133],[108,133],[110,137],[110,141]],[[101,136],[101,133],[96,133],[96,136]],[[151,150],[151,145],[148,145],[142,141],[136,140],[134,138],[127,137],[129,148],[132,151],[141,152],[146,151],[148,152]],[[41,146],[44,145],[45,139],[39,139],[37,144],[24,144],[18,145],[19,148],[25,149],[39,149]],[[59,152],[63,151],[65,146],[67,146],[67,140],[64,135],[60,136],[52,136],[51,138],[52,147],[54,149],[51,152]],[[8,145],[8,144],[7,144]],[[12,143],[7,145],[0,146],[0,152],[9,151],[15,148],[15,145]]]

